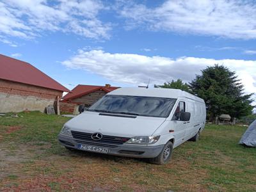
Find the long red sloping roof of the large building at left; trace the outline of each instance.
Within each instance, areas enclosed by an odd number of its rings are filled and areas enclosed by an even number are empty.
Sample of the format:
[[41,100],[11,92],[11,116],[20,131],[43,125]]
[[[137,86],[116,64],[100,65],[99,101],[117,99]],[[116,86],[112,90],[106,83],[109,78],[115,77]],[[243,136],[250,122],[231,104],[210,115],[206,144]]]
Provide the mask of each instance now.
[[70,92],[65,86],[24,61],[0,54],[0,79]]

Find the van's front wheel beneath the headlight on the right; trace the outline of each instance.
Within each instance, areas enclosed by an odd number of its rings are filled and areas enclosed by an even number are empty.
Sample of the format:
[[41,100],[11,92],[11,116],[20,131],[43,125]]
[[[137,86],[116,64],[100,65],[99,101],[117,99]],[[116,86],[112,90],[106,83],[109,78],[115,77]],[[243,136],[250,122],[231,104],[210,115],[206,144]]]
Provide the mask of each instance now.
[[173,144],[168,141],[163,147],[161,153],[152,159],[149,159],[150,163],[153,164],[166,164],[172,158]]

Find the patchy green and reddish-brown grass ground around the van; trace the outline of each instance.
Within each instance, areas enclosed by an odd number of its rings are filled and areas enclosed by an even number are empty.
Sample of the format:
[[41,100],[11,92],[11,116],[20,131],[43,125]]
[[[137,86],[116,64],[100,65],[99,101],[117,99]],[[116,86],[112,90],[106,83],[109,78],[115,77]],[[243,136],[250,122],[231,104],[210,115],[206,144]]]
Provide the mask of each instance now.
[[[69,118],[38,112],[0,118],[0,191],[255,191],[256,148],[246,127],[207,125],[163,166],[68,151],[56,140]],[[22,116],[22,117],[21,117]]]

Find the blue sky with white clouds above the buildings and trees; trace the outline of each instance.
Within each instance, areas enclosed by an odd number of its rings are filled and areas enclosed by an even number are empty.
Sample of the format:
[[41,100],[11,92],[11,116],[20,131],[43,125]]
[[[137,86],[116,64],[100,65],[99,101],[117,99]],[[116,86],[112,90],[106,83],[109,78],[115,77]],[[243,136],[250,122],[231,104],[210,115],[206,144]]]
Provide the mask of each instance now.
[[69,89],[189,82],[221,64],[256,93],[256,1],[0,0],[0,53]]

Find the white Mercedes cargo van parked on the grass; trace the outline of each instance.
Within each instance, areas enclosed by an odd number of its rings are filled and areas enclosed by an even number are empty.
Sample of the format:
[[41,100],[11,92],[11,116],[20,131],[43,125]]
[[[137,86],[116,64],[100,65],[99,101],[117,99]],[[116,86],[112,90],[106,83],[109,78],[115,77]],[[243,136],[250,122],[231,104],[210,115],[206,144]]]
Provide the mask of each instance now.
[[197,141],[205,127],[205,102],[165,88],[119,88],[69,120],[58,140],[68,149],[167,163],[173,148]]

